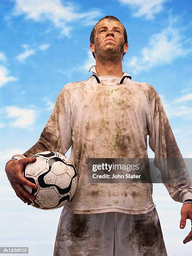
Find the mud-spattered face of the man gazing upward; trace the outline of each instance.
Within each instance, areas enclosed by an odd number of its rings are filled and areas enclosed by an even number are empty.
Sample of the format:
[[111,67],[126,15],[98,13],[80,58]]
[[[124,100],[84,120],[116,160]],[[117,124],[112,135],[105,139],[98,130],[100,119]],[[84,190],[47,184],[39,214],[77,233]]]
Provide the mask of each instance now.
[[120,59],[126,49],[124,28],[117,20],[101,20],[95,27],[95,56],[102,61]]

